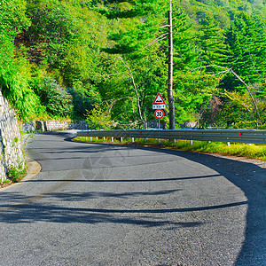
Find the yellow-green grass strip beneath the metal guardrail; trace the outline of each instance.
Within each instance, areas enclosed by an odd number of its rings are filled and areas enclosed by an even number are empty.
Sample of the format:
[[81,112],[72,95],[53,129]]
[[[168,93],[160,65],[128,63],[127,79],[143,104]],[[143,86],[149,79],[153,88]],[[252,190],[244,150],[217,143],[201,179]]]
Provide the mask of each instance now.
[[[111,137],[106,137],[104,141],[103,137],[75,137],[75,141],[82,141],[82,142],[96,142],[96,143],[111,143]],[[123,138],[122,143],[131,143],[131,137]],[[113,138],[112,143],[120,143],[121,138]],[[257,159],[257,160],[264,160],[266,161],[266,145],[249,145],[249,144],[242,144],[242,143],[231,143],[230,146],[227,143],[223,142],[211,142],[208,143],[207,141],[196,141],[193,140],[193,145],[191,145],[189,140],[176,140],[176,144],[174,141],[168,139],[161,139],[160,144],[158,143],[157,138],[135,138],[134,145],[152,145],[156,147],[163,147],[163,148],[171,148],[176,150],[182,151],[191,151],[197,153],[218,153],[221,155],[229,155],[229,156],[238,156],[238,157],[246,157],[249,159]]]

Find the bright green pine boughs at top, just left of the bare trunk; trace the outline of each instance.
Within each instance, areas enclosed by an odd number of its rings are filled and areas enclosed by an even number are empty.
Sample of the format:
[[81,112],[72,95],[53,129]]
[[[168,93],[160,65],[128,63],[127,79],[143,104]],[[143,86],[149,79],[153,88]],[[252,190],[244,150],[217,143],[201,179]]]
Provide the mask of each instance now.
[[[109,35],[110,44],[105,51],[113,54],[131,53],[142,57],[160,39],[160,23],[167,12],[167,0],[104,1],[98,11],[116,28]],[[152,49],[153,50],[153,49]]]

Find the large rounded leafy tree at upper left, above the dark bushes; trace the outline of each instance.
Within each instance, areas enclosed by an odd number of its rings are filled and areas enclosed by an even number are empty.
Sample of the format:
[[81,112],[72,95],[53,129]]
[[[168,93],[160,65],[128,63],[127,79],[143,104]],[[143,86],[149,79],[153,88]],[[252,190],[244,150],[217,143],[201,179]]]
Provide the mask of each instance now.
[[68,86],[95,82],[105,21],[90,7],[71,1],[40,0],[31,5],[30,14],[26,37],[31,58]]

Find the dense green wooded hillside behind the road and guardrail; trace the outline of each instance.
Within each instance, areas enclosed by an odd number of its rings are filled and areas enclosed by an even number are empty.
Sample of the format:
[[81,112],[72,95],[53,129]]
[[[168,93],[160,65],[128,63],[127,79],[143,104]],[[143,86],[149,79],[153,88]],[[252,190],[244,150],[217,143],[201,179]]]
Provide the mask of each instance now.
[[[176,127],[265,129],[266,2],[172,3]],[[0,88],[22,120],[143,127],[157,92],[167,99],[168,9],[166,0],[0,0]]]

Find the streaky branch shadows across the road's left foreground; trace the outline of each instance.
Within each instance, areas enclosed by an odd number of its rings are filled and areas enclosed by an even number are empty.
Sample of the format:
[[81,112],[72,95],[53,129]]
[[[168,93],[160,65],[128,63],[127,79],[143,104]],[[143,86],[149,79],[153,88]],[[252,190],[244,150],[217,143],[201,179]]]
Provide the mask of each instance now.
[[[112,208],[89,208],[89,207],[68,207],[67,204],[59,206],[56,201],[82,201],[98,198],[136,198],[153,195],[167,195],[178,192],[178,190],[166,190],[160,192],[74,192],[61,193],[51,192],[35,197],[27,197],[19,192],[4,192],[2,200],[9,201],[0,208],[0,223],[123,223],[143,227],[161,227],[168,230],[180,227],[199,226],[200,222],[177,223],[175,221],[161,219],[161,215],[169,212],[176,212],[174,209],[112,209]],[[42,203],[42,200],[47,199]],[[41,201],[41,202],[40,202]]]

